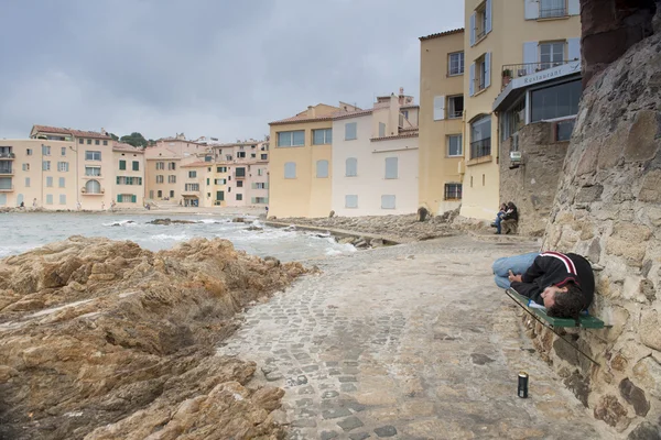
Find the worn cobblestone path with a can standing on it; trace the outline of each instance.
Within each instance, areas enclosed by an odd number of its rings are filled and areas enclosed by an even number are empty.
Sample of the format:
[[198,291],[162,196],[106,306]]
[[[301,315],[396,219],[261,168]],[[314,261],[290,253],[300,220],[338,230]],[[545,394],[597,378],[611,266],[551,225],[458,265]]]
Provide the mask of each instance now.
[[492,285],[496,257],[533,250],[455,237],[315,262],[321,275],[249,309],[218,351],[285,389],[291,439],[611,438]]

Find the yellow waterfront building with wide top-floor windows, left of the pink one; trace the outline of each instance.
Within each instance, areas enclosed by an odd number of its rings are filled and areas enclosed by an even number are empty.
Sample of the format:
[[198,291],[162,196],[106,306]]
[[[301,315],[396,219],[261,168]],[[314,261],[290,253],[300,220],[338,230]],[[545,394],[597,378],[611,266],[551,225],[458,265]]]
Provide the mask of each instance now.
[[269,124],[270,216],[326,217],[330,212],[333,117],[357,110],[343,102],[340,106],[311,106],[295,117]]

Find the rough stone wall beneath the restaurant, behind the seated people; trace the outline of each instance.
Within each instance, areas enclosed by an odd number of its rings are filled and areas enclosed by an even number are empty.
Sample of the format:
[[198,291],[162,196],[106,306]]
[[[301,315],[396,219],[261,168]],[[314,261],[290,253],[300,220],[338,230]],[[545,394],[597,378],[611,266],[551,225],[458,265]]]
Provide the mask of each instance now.
[[521,165],[510,169],[511,139],[500,143],[500,201],[519,208],[520,234],[544,233],[567,146],[554,142],[553,123],[525,125],[519,131]]

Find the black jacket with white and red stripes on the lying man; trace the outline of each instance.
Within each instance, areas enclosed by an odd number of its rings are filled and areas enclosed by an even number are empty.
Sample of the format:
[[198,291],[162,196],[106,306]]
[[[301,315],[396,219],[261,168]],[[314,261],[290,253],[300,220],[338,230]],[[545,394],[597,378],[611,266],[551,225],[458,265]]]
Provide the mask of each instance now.
[[511,286],[519,294],[537,304],[544,305],[542,292],[549,286],[562,287],[573,282],[581,287],[585,297],[586,309],[595,296],[595,276],[589,262],[577,254],[544,252],[538,255],[532,266],[521,276],[522,283],[513,282]]

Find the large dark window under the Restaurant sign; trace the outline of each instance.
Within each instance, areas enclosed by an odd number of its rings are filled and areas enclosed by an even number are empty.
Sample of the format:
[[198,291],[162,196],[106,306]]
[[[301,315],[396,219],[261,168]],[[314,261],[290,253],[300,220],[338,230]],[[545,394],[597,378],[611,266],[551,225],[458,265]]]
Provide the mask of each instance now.
[[530,94],[531,122],[578,113],[581,92],[581,80],[533,90]]

